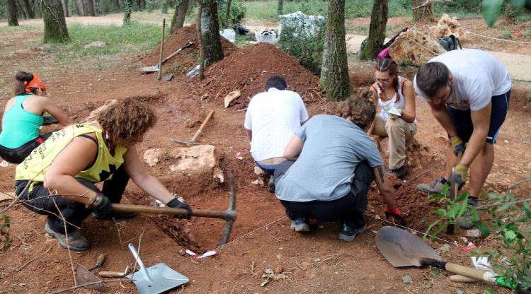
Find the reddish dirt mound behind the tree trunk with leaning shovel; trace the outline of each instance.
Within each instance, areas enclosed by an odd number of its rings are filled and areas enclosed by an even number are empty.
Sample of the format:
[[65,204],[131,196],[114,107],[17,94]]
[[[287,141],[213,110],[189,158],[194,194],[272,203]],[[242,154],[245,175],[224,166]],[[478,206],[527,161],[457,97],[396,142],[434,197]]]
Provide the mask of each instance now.
[[[169,57],[170,54],[176,52],[188,42],[193,42],[193,45],[183,49],[183,51],[176,54],[175,57],[172,57],[166,61],[162,67],[164,72],[171,72],[176,75],[184,76],[185,73],[199,64],[199,40],[198,30],[195,27],[195,23],[181,28],[181,30],[177,30],[168,36],[164,42],[163,58]],[[224,37],[221,37],[221,42],[225,57],[229,56],[232,54],[232,52],[238,49],[236,45],[232,44]],[[159,64],[160,49],[161,47],[159,45],[152,52],[149,52],[142,57],[140,61],[147,66]]]

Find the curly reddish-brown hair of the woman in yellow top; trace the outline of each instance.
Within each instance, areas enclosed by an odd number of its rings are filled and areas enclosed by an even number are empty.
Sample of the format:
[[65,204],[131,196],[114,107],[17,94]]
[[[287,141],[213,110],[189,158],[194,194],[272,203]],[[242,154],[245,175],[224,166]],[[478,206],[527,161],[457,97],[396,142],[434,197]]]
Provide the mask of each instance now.
[[156,123],[149,105],[133,98],[121,100],[98,115],[98,123],[110,135],[110,141],[127,146],[144,136]]

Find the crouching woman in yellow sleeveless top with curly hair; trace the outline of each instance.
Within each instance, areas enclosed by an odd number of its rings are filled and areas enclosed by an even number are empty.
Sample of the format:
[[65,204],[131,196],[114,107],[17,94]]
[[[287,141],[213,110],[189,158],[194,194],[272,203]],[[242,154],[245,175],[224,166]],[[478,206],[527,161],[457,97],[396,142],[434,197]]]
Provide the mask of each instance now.
[[[98,219],[135,216],[115,212],[112,206],[120,202],[130,178],[166,206],[188,211],[178,218],[190,218],[190,206],[149,175],[138,157],[136,145],[155,122],[151,107],[127,99],[103,110],[97,122],[55,131],[16,167],[18,199],[31,211],[47,215],[46,233],[76,251],[90,246],[79,227],[91,213]],[[103,189],[94,185],[97,182],[104,182]]]

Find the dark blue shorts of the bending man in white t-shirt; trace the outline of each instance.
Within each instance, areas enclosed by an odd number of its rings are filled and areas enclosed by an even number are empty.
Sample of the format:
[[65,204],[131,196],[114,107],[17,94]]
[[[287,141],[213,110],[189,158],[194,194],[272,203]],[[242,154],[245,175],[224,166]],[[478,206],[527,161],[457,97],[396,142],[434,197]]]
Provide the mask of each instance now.
[[[492,97],[491,122],[489,124],[489,134],[487,134],[486,137],[487,143],[496,143],[496,137],[500,132],[501,125],[506,120],[509,100],[510,90],[505,94]],[[472,136],[472,131],[474,131],[470,110],[456,110],[450,106],[447,106],[446,108],[450,113],[450,118],[454,124],[455,131],[457,131],[457,136],[459,136],[464,142],[468,142],[470,136]]]

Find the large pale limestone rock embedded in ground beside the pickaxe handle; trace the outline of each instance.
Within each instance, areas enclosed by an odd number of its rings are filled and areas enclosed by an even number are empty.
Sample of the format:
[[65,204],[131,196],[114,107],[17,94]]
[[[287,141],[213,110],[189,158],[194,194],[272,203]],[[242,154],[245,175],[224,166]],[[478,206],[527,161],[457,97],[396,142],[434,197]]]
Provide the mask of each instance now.
[[170,170],[210,172],[217,165],[214,149],[212,145],[175,148],[169,153],[169,156],[176,160],[176,164],[170,165]]

